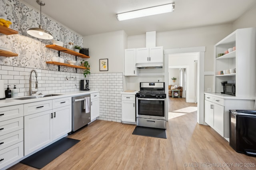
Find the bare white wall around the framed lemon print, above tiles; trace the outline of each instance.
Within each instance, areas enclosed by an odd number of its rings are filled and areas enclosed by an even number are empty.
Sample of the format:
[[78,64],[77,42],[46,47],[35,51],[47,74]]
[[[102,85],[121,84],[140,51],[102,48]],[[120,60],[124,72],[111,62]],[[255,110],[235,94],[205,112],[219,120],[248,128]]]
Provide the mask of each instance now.
[[[124,72],[124,49],[127,35],[121,31],[84,36],[84,47],[89,48],[91,73]],[[100,71],[99,59],[108,59],[108,71]]]

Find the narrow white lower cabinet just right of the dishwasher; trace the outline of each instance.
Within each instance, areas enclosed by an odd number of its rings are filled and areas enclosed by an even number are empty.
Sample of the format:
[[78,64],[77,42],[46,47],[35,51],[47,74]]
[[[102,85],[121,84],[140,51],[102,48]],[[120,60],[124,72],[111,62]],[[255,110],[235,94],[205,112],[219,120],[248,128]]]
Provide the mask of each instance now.
[[91,93],[91,122],[100,116],[100,93]]

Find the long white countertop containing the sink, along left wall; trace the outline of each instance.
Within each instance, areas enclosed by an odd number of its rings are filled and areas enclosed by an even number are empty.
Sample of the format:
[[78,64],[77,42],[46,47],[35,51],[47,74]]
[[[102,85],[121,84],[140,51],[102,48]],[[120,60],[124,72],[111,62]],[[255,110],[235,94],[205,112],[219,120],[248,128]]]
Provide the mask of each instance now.
[[[21,97],[28,97],[28,96],[20,96],[20,97],[16,97],[16,98],[8,98],[8,99],[0,100],[0,107],[11,106],[11,105],[20,105],[20,104],[24,104],[24,103],[32,103],[32,102],[37,102],[37,101],[59,99],[59,98],[63,98],[63,97],[86,95],[86,94],[96,93],[96,92],[100,92],[100,91],[70,91],[70,92],[64,92],[64,93],[52,93],[52,94],[60,94],[57,96],[42,97],[42,98],[36,98],[36,99],[26,99],[26,100],[16,100]],[[44,95],[46,95],[46,94],[44,94]]]

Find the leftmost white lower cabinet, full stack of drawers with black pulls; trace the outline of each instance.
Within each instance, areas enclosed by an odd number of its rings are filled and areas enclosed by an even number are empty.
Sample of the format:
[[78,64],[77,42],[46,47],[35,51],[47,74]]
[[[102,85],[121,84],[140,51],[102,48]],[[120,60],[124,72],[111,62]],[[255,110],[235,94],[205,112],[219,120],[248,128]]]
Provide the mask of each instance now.
[[24,156],[23,105],[0,108],[0,169]]

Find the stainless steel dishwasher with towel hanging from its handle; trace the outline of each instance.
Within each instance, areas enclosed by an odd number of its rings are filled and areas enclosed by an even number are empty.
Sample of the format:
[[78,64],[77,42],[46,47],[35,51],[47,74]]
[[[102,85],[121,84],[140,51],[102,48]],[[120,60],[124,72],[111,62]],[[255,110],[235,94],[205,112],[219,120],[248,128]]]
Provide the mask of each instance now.
[[80,95],[72,97],[72,131],[76,131],[91,121],[91,97]]

